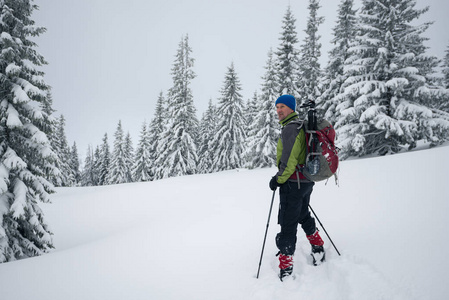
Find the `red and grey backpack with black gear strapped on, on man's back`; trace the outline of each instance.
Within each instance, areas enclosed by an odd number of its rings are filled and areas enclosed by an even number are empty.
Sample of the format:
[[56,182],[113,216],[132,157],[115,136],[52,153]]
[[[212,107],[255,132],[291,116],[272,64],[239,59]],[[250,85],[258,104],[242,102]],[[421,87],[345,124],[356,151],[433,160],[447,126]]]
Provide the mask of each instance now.
[[327,120],[317,122],[315,103],[309,101],[301,107],[308,107],[307,122],[299,121],[298,129],[303,128],[306,136],[306,162],[298,165],[297,171],[301,172],[308,180],[318,182],[335,177],[338,184],[338,148],[335,147],[335,129]]

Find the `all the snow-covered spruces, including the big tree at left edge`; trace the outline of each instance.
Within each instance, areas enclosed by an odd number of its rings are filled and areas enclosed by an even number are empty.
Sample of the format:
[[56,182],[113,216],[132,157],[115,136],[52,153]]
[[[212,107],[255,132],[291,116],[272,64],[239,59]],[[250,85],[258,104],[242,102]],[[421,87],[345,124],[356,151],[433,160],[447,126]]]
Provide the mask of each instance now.
[[[426,54],[416,24],[428,7],[415,0],[341,0],[333,49],[320,66],[319,1],[309,0],[300,42],[290,7],[279,45],[267,55],[262,85],[243,99],[230,63],[221,96],[200,120],[191,82],[194,59],[182,37],[171,69],[172,87],[160,92],[154,117],[143,122],[136,148],[121,121],[109,145],[89,146],[80,170],[76,143],[69,146],[64,116],[55,117],[46,64],[30,37],[45,32],[31,15],[32,0],[0,1],[0,262],[40,255],[53,248],[39,201],[57,186],[96,186],[271,167],[279,124],[274,102],[282,94],[317,103],[337,131],[341,157],[385,155],[436,146],[449,132],[449,48],[442,59]],[[441,68],[442,76],[436,70]],[[299,108],[298,108],[299,110]]]

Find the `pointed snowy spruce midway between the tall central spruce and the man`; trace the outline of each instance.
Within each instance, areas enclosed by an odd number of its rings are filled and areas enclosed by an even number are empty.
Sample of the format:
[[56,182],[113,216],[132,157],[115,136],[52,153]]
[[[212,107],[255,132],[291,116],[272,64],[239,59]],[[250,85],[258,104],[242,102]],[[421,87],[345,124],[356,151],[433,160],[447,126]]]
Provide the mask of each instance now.
[[218,125],[211,141],[213,172],[241,168],[245,164],[245,121],[240,80],[234,64],[228,68],[217,105]]

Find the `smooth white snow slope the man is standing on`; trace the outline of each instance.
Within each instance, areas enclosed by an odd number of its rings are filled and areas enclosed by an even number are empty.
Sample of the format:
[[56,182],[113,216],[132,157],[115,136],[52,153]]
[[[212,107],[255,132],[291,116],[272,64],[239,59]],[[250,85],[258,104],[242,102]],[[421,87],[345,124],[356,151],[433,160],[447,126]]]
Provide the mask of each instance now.
[[447,299],[449,148],[341,164],[312,207],[327,262],[302,232],[295,279],[277,278],[276,210],[256,279],[274,169],[61,188],[42,205],[56,249],[0,265],[2,300]]

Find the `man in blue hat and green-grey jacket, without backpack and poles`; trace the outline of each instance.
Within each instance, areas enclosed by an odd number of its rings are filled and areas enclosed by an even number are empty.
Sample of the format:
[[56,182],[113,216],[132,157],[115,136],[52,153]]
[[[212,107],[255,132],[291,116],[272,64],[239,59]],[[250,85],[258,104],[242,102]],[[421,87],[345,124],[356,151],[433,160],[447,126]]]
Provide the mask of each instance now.
[[306,140],[295,109],[296,99],[291,95],[282,95],[276,100],[276,112],[282,125],[282,132],[277,144],[276,158],[279,171],[270,180],[270,189],[275,191],[278,186],[280,187],[278,223],[281,232],[276,235],[276,246],[279,249],[281,281],[293,272],[298,224],[301,224],[312,246],[314,265],[320,264],[325,258],[324,242],[309,211],[310,194],[314,183],[307,180],[297,169],[298,164],[304,164],[306,161]]

